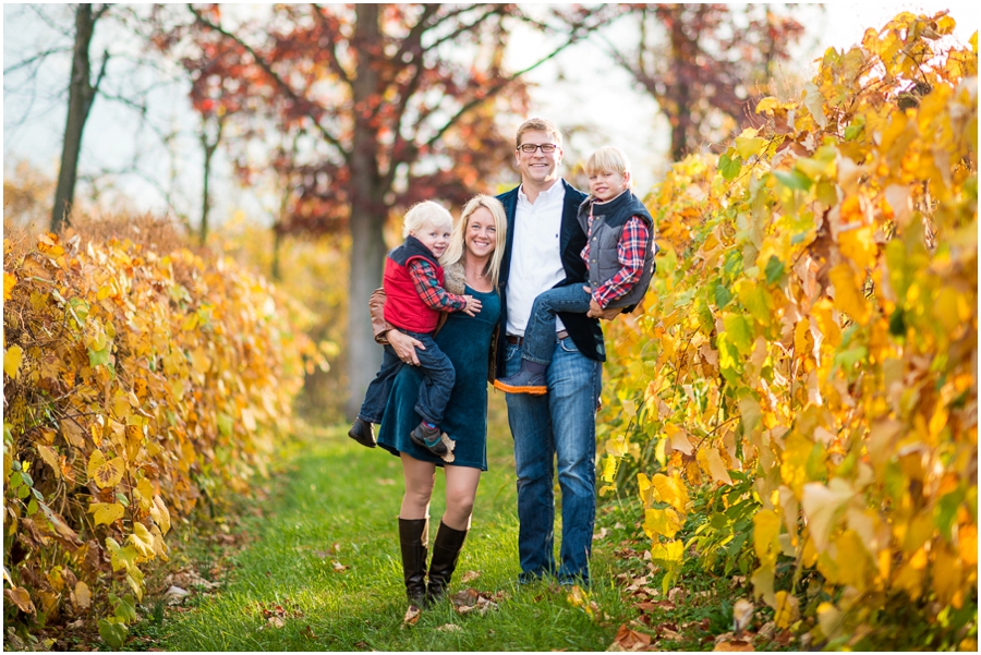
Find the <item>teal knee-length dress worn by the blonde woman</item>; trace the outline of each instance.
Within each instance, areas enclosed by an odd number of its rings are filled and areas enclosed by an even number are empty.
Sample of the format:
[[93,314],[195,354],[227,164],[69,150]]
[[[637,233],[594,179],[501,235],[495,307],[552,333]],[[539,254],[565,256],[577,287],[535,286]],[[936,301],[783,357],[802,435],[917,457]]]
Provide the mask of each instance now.
[[[456,441],[453,466],[487,470],[487,366],[491,337],[500,318],[496,291],[481,292],[467,287],[465,293],[481,301],[476,316],[450,314],[434,339],[453,364],[457,377],[444,414],[443,432]],[[378,446],[438,466],[446,462],[409,439],[422,417],[415,413],[422,375],[415,366],[402,366],[391,386],[378,428]]]

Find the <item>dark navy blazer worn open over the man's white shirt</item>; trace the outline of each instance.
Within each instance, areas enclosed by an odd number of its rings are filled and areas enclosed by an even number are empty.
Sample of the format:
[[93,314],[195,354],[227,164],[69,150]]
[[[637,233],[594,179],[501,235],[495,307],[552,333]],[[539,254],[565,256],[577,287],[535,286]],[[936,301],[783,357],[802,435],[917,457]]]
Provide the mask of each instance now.
[[[565,287],[567,284],[589,284],[589,271],[586,271],[585,262],[582,260],[580,253],[585,246],[586,234],[582,231],[576,215],[579,206],[586,198],[586,194],[582,193],[565,180],[560,183],[566,187],[566,197],[562,205],[562,222],[561,233],[559,234],[559,247],[561,248],[562,269],[566,278],[556,284],[556,287]],[[506,352],[507,335],[505,330],[508,325],[508,277],[511,269],[511,251],[514,239],[514,214],[518,208],[518,186],[497,196],[505,207],[505,214],[508,217],[508,235],[505,245],[504,259],[500,263],[500,276],[498,280],[498,292],[500,294],[500,330],[498,330],[497,343],[497,375],[504,376],[504,357]],[[559,318],[569,331],[569,338],[576,343],[583,355],[598,362],[606,361],[606,348],[603,344],[603,329],[600,327],[598,318],[590,318],[585,314],[568,314],[566,312],[558,313]]]

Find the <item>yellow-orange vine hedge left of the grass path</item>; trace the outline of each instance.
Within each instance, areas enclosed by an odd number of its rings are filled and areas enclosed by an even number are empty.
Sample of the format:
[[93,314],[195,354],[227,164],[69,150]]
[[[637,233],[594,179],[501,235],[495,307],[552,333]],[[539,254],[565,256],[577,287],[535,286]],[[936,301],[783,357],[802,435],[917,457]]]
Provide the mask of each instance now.
[[[4,242],[4,620],[98,619],[118,647],[168,533],[249,488],[314,355],[228,259],[130,240]],[[306,360],[306,361],[305,361]]]

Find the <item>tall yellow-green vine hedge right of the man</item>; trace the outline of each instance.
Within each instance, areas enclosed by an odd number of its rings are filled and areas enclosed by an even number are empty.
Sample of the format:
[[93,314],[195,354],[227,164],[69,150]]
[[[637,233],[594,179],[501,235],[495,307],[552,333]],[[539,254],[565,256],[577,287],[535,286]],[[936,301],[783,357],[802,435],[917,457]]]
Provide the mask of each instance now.
[[953,27],[899,14],[676,165],[645,313],[607,330],[601,486],[639,481],[665,584],[689,553],[742,569],[825,647],[900,606],[977,645],[977,33]]

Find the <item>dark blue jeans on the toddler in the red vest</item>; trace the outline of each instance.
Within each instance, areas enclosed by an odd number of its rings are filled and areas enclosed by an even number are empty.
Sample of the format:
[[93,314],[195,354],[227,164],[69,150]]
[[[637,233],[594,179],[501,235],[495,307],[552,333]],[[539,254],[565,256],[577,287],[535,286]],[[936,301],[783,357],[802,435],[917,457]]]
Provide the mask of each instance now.
[[[415,411],[420,416],[439,425],[443,423],[443,413],[446,410],[446,403],[449,402],[450,393],[453,390],[453,383],[457,374],[449,357],[439,350],[433,336],[425,332],[410,332],[409,330],[399,330],[414,339],[417,339],[425,350],[415,349],[419,356],[419,367],[423,374],[423,381],[419,386],[419,402],[415,404]],[[358,417],[368,423],[382,423],[382,415],[385,413],[385,403],[388,402],[388,396],[391,392],[391,385],[395,376],[402,368],[404,362],[396,354],[395,349],[385,344],[385,354],[382,355],[382,367],[378,368],[375,379],[368,385],[364,395],[364,402],[361,403],[361,410]]]

